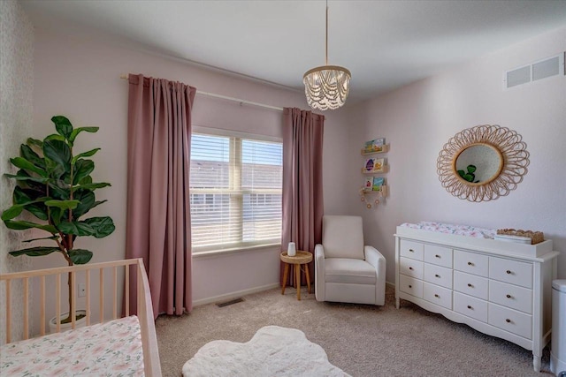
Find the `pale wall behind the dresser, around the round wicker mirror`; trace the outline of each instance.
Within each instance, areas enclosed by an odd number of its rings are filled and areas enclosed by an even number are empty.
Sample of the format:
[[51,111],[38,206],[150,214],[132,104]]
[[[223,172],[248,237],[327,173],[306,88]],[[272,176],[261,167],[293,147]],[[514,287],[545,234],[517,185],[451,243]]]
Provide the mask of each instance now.
[[[366,242],[387,260],[387,281],[394,282],[394,232],[402,222],[431,220],[501,229],[541,230],[561,252],[559,277],[566,277],[566,77],[554,77],[503,90],[503,72],[566,50],[566,28],[510,46],[449,72],[424,79],[349,109],[360,124],[351,139],[350,196],[363,215]],[[530,153],[524,181],[498,200],[459,200],[441,185],[436,161],[455,133],[478,124],[499,124],[523,136]],[[368,139],[385,137],[390,194],[367,210],[354,194],[362,185]],[[357,153],[356,153],[357,152]]]

